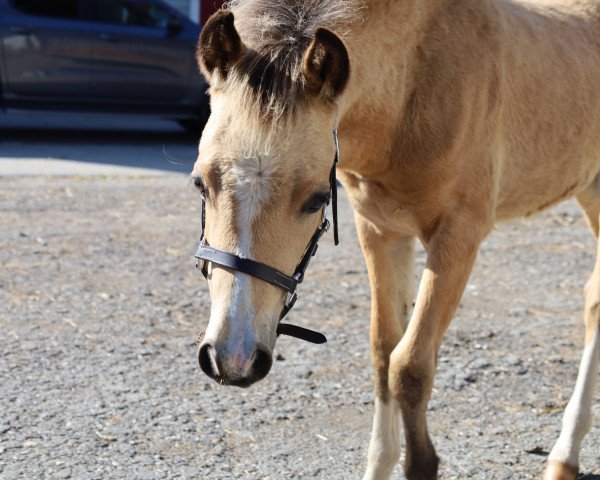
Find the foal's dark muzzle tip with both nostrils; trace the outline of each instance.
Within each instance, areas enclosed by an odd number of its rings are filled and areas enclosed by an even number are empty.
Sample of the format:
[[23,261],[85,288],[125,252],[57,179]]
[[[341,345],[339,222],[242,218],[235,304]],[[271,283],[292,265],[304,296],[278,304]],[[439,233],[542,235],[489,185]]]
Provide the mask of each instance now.
[[198,349],[198,363],[208,377],[221,385],[249,387],[267,376],[273,355],[261,344],[245,355],[242,350],[228,352],[205,341]]

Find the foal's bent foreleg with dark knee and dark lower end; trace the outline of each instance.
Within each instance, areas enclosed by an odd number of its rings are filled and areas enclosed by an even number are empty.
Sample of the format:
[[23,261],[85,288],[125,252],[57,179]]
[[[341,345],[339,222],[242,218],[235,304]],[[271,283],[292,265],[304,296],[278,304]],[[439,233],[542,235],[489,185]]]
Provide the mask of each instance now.
[[415,309],[391,355],[389,385],[404,422],[404,472],[409,480],[437,478],[438,458],[427,432],[427,403],[442,337],[462,296],[480,241],[487,233],[482,231],[479,236],[478,230],[476,223],[446,223],[428,243]]

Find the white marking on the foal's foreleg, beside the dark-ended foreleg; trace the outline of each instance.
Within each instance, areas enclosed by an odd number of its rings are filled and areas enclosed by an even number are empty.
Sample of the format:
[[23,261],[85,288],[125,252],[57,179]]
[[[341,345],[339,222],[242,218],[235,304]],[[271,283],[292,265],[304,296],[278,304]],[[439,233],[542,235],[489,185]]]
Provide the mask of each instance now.
[[400,408],[394,399],[375,399],[373,431],[369,443],[367,471],[363,480],[389,478],[400,457]]

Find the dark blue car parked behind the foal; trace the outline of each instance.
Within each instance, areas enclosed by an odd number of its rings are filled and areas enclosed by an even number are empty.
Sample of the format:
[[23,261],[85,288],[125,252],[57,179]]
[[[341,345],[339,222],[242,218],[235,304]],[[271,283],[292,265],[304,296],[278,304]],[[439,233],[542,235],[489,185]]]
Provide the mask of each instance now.
[[200,27],[161,0],[0,0],[0,107],[208,117]]

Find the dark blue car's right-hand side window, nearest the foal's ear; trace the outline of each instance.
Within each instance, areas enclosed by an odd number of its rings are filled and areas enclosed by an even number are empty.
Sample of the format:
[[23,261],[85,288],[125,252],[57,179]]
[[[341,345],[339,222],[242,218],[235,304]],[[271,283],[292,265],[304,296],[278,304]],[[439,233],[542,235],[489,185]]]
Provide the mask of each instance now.
[[97,22],[167,28],[170,14],[162,5],[136,0],[96,0],[93,20]]

